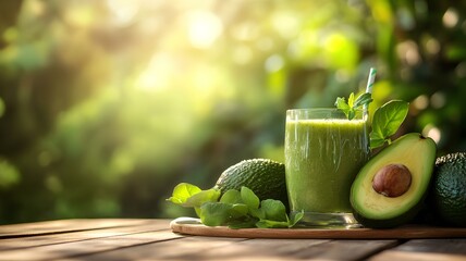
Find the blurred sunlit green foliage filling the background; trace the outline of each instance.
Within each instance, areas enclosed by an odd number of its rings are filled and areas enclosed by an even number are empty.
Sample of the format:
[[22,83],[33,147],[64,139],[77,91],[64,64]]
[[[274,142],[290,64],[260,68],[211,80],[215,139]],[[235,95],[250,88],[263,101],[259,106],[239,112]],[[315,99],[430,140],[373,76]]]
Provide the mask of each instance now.
[[[283,160],[289,108],[410,102],[400,134],[466,149],[466,3],[0,2],[0,224],[173,217],[172,188]],[[400,135],[397,134],[397,135]]]

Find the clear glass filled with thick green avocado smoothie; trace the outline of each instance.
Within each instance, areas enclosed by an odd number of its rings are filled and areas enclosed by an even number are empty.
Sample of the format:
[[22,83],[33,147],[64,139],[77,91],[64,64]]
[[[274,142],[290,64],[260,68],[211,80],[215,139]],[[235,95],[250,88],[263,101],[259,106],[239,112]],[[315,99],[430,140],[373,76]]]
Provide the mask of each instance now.
[[292,212],[351,214],[350,188],[368,158],[363,115],[350,121],[335,109],[289,110],[285,170]]

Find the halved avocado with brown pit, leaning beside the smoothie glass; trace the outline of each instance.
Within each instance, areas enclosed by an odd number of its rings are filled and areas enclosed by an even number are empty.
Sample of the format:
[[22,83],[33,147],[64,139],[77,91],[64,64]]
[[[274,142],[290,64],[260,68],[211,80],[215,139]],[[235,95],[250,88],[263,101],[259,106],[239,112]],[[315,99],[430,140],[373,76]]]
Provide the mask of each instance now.
[[406,224],[421,208],[436,162],[437,146],[420,134],[406,134],[370,159],[357,174],[350,201],[366,227]]

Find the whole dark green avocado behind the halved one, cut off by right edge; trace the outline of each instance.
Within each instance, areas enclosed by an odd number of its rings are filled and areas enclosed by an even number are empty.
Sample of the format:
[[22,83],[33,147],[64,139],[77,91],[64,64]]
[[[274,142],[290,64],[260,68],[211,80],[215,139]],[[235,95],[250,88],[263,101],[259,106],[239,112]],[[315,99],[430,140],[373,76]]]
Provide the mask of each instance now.
[[430,207],[444,225],[466,227],[466,153],[456,152],[436,161]]

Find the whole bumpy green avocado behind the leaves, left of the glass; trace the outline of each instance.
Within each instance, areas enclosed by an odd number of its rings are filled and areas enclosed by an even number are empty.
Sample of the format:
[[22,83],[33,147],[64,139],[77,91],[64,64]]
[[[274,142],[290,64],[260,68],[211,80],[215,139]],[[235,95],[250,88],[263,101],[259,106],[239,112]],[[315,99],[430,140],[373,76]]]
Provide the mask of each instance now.
[[253,190],[260,200],[277,199],[289,206],[285,165],[269,159],[250,159],[228,167],[216,183],[222,194],[241,187]]

